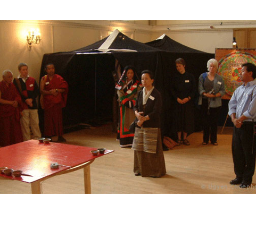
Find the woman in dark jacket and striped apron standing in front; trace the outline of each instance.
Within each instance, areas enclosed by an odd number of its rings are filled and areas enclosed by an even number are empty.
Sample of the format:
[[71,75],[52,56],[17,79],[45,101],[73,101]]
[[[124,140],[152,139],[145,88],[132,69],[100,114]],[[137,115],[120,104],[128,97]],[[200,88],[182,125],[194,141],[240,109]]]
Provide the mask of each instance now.
[[153,82],[153,73],[148,70],[143,71],[144,88],[139,91],[134,106],[137,117],[132,146],[135,176],[161,177],[166,174],[160,130],[162,97],[154,88]]

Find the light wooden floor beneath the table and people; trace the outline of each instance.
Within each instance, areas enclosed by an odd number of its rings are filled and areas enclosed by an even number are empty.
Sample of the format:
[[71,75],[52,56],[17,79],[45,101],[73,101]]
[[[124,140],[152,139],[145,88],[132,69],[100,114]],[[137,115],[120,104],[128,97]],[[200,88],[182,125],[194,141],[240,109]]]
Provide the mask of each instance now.
[[[189,136],[191,146],[164,151],[167,175],[161,178],[134,176],[130,148],[120,148],[111,125],[65,134],[69,144],[108,148],[113,153],[90,165],[92,193],[255,193],[256,180],[250,189],[229,184],[235,175],[231,153],[232,129],[218,134],[219,146],[202,146],[202,132]],[[0,193],[30,193],[30,184],[0,177]],[[83,171],[50,178],[42,183],[43,193],[84,193]]]

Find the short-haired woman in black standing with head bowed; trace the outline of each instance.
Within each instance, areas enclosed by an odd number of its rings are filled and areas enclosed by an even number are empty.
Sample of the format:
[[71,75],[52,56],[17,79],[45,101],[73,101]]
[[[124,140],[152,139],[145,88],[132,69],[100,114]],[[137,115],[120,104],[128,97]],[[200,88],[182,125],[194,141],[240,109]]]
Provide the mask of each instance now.
[[189,145],[187,136],[194,132],[194,104],[193,98],[196,93],[195,78],[186,72],[186,63],[183,58],[175,61],[178,73],[172,80],[171,95],[175,99],[175,130],[177,143]]

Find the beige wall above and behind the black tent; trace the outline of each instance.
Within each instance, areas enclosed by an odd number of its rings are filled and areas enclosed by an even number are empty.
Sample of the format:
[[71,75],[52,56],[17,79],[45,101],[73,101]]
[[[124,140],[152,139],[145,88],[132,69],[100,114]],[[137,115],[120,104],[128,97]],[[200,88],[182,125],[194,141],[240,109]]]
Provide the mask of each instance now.
[[[213,28],[210,28],[210,25]],[[233,28],[256,28],[256,21],[0,21],[0,71],[18,75],[20,62],[29,65],[29,73],[39,80],[45,53],[65,52],[88,46],[119,29],[128,37],[148,42],[166,33],[189,47],[214,53],[215,48],[232,47]],[[26,31],[39,28],[42,41],[28,48]]]

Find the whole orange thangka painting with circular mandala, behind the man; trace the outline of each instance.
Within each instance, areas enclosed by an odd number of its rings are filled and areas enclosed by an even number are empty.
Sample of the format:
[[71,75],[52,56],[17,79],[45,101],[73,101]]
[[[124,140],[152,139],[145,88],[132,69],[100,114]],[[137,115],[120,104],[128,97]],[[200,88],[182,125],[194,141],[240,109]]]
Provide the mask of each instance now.
[[216,49],[215,58],[219,62],[218,74],[225,82],[226,95],[222,99],[230,99],[242,84],[242,65],[247,62],[256,65],[256,49]]

